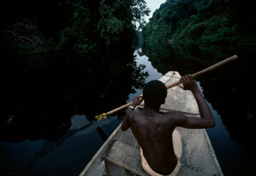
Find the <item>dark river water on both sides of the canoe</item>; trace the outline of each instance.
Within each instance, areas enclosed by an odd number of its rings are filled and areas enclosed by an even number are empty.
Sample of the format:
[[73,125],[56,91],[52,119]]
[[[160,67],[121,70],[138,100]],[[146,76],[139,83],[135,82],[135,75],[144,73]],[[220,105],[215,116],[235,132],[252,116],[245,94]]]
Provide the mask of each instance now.
[[[134,54],[137,55],[135,64],[145,65],[143,72],[148,72],[141,82],[162,77],[163,73],[152,66],[147,56],[140,56],[137,51]],[[252,78],[248,75],[250,72],[238,73],[239,67],[243,65],[234,61],[196,79],[215,116],[216,126],[207,129],[207,133],[224,175],[251,175],[255,165],[251,142],[256,124],[252,105],[255,94],[250,89],[253,86],[247,82]],[[113,68],[115,72],[119,69],[117,65]],[[175,66],[168,69],[179,71]],[[140,71],[135,70],[137,75]],[[91,72],[88,70],[89,76]],[[129,103],[142,94],[142,85],[138,83],[140,76],[136,77],[137,83],[127,86],[111,79],[102,82],[106,74],[108,72],[102,72],[92,80],[83,80],[93,83],[74,81],[72,87],[61,84],[57,88],[32,87],[26,91],[3,92],[0,98],[0,175],[79,175],[103,144],[99,129],[110,136],[127,110],[99,121],[94,116]],[[193,73],[183,70],[180,74]],[[134,81],[130,80],[134,77],[131,74],[117,72],[116,75],[125,82]]]

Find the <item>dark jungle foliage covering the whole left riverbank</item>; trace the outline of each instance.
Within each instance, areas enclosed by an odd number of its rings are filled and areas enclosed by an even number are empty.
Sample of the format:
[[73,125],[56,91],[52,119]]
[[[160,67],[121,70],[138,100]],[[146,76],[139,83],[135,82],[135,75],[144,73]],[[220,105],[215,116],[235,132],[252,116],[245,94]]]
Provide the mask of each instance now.
[[5,1],[1,72],[40,77],[58,65],[120,61],[112,51],[129,52],[123,49],[131,46],[135,23],[145,24],[149,12],[144,0]]

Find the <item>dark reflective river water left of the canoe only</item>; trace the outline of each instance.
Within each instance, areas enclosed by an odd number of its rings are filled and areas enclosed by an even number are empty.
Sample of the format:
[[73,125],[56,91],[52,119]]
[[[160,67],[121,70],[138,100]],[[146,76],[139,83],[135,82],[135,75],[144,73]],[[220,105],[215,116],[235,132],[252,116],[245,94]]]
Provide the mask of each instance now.
[[[109,136],[126,110],[122,109],[97,124],[94,116],[126,104],[131,94],[142,89],[148,77],[145,66],[137,65],[135,55],[133,52],[127,54],[131,52],[128,50],[126,55],[96,58],[86,65],[76,63],[79,65],[76,69],[59,70],[57,75],[4,82],[5,95],[0,99],[0,173],[79,173],[103,143],[96,128],[100,127]],[[10,157],[14,150],[24,149],[26,143],[40,145],[34,150],[29,150],[30,147],[23,150],[24,155],[17,155],[19,160]],[[69,147],[72,153],[68,152]],[[68,164],[68,160],[82,162]],[[72,169],[68,173],[56,165],[49,166],[49,163]],[[36,167],[38,165],[40,168]]]

